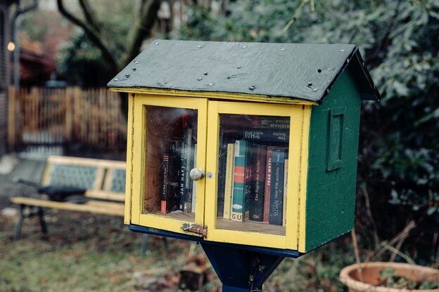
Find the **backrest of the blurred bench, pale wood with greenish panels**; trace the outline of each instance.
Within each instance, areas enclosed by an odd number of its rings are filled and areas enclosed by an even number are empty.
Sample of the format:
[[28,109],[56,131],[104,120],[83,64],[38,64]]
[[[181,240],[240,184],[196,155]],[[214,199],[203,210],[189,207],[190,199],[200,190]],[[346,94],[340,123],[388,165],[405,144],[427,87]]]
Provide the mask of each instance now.
[[101,194],[98,197],[125,195],[125,170],[125,161],[49,156],[41,184],[82,187],[87,194]]

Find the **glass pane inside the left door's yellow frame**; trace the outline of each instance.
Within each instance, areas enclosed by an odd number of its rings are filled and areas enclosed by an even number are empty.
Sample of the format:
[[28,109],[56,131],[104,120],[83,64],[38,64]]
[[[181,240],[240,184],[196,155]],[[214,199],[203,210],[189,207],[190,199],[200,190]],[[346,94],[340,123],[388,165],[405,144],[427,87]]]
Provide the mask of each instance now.
[[146,106],[144,213],[190,220],[195,213],[197,110]]

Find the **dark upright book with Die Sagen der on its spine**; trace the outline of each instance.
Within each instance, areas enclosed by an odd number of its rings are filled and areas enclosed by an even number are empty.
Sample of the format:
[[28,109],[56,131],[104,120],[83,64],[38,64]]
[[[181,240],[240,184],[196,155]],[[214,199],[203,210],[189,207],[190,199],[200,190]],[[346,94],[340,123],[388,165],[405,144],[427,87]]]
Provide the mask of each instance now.
[[267,145],[254,145],[252,192],[250,194],[250,220],[262,222],[264,219],[265,168]]

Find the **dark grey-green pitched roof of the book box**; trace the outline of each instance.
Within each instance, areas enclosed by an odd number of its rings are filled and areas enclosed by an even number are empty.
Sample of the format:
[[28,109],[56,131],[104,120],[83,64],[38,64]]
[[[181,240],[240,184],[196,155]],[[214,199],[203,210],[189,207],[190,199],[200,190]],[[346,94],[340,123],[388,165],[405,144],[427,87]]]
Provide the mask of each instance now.
[[349,67],[362,98],[380,95],[352,44],[266,44],[155,40],[109,83],[300,98],[322,102]]

